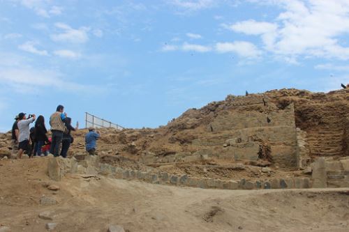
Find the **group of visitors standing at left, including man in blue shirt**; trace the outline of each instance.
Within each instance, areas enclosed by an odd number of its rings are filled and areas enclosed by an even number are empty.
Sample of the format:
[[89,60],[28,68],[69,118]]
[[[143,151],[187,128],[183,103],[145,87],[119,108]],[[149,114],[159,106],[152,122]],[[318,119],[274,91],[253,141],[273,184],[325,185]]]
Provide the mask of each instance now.
[[[34,127],[30,128],[31,123]],[[51,137],[47,137],[45,118],[40,115],[36,118],[35,114],[20,113],[15,117],[15,123],[12,127],[12,145],[13,154],[17,153],[17,159],[22,158],[24,151],[29,157],[45,156],[51,153],[55,157],[66,157],[70,144],[73,143],[71,131],[79,127],[71,125],[71,118],[64,112],[64,106],[59,105],[57,110],[50,116]],[[86,134],[86,150],[89,155],[96,153],[96,140],[100,137],[93,127],[89,128]]]

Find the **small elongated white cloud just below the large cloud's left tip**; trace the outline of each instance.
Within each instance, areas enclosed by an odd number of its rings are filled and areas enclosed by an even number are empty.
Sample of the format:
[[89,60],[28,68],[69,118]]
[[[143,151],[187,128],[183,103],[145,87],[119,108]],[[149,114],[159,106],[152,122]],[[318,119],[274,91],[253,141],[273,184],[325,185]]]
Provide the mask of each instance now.
[[221,53],[235,52],[239,56],[248,58],[256,58],[262,54],[253,43],[246,41],[218,42],[216,43],[216,51]]

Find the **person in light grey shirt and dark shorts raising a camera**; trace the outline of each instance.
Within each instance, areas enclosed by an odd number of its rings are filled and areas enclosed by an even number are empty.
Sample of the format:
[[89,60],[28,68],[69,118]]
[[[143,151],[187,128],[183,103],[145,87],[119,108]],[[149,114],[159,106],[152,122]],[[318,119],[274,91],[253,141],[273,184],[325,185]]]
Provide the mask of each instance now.
[[31,146],[29,143],[29,125],[35,121],[35,114],[29,114],[28,118],[26,114],[20,113],[18,114],[19,121],[17,123],[18,130],[20,133],[18,134],[18,142],[20,143],[18,146],[18,154],[17,159],[22,158],[22,154],[24,150],[27,150],[28,155],[31,155]]

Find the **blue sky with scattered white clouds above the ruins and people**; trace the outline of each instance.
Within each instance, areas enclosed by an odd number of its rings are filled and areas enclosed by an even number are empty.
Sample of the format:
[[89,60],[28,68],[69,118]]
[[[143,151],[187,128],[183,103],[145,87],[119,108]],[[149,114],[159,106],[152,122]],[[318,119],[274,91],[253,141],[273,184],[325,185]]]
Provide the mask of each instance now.
[[57,105],[128,128],[226,95],[349,83],[348,0],[0,0],[0,131]]

